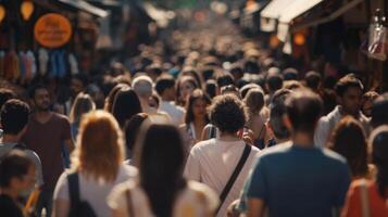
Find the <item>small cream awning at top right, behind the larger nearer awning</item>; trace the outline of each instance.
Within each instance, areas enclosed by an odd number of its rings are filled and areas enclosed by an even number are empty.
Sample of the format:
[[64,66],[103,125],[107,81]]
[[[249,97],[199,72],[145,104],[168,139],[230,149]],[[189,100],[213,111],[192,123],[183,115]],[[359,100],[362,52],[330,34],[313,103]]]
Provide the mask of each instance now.
[[273,0],[260,13],[260,27],[262,31],[275,31],[277,18],[295,1],[299,0]]

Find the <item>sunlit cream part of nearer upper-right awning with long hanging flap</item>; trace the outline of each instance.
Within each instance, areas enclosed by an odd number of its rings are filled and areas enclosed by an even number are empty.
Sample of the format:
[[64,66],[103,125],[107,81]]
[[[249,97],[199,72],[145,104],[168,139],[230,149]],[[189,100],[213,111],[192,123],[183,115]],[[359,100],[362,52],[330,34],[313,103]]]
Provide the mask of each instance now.
[[323,2],[323,0],[298,0],[287,7],[287,10],[285,10],[279,17],[277,38],[279,38],[280,41],[285,41],[290,22],[321,2]]

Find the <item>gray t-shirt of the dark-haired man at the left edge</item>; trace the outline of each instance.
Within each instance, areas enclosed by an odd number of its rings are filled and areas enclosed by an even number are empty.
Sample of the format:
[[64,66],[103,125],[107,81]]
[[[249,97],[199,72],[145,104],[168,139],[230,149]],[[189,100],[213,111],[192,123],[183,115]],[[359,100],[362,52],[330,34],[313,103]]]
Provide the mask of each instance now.
[[[16,142],[0,142],[0,157],[4,156],[9,152],[11,152],[17,143]],[[30,159],[33,159],[35,164],[35,169],[36,169],[36,176],[37,176],[37,184],[38,187],[43,184],[43,175],[41,171],[41,163],[39,156],[32,150],[29,149],[20,149],[21,151],[25,152]]]

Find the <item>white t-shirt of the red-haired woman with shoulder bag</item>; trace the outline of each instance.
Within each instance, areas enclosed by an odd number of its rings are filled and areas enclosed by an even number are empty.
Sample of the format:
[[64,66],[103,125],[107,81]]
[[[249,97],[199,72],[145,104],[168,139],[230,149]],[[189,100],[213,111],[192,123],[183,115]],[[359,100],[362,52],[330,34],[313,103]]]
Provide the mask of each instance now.
[[[68,195],[68,171],[64,171],[59,178],[54,191],[54,200],[61,199],[70,201]],[[79,175],[79,197],[80,201],[86,201],[90,204],[97,216],[110,216],[110,208],[107,204],[107,196],[118,183],[127,181],[137,175],[137,169],[129,165],[122,165],[118,169],[116,180],[114,182],[102,182],[92,178],[86,178],[85,175]]]

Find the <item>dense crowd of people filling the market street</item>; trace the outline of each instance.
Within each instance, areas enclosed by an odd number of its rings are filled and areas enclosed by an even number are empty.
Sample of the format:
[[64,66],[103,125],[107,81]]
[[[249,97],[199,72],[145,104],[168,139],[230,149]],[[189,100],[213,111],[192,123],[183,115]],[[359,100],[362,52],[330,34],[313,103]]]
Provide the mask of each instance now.
[[0,215],[388,216],[388,93],[230,25],[70,87],[1,82]]

